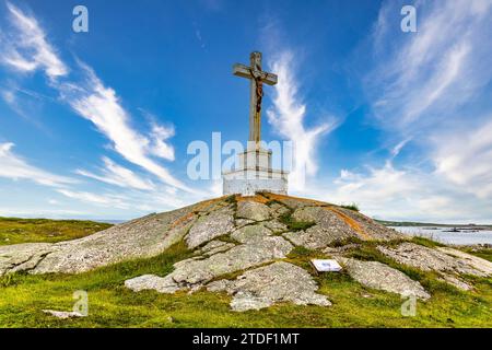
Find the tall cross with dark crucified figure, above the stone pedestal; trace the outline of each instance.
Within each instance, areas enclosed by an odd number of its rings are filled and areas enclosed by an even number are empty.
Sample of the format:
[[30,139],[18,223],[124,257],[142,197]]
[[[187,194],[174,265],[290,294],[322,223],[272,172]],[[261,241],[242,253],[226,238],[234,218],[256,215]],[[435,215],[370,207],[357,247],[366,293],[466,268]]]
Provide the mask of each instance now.
[[277,75],[261,70],[261,52],[251,52],[250,66],[234,65],[233,73],[250,80],[249,102],[249,141],[259,148],[261,141],[261,100],[263,97],[263,83],[277,84]]

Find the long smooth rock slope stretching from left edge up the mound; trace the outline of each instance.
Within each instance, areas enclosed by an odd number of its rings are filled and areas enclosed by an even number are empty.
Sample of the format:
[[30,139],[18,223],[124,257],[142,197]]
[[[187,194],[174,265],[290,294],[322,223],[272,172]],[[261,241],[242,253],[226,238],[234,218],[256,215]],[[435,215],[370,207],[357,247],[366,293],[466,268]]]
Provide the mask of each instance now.
[[150,214],[79,240],[0,247],[0,275],[15,271],[77,273],[155,256],[183,238],[196,218],[192,208]]

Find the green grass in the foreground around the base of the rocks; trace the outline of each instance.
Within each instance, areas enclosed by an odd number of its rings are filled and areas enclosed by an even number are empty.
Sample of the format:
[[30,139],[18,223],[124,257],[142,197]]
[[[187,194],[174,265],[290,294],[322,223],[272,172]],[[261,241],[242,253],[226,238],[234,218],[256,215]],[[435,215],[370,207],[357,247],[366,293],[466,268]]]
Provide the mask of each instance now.
[[[230,311],[231,296],[224,293],[198,291],[168,295],[154,291],[134,293],[125,288],[129,278],[144,273],[165,276],[173,270],[174,262],[190,257],[191,252],[179,242],[153,258],[80,275],[4,276],[0,278],[0,327],[492,327],[491,279],[465,277],[473,282],[476,290],[461,292],[440,282],[432,272],[388,259],[376,249],[376,243],[365,242],[351,254],[400,269],[420,281],[432,299],[418,302],[417,316],[405,317],[400,313],[405,300],[399,295],[364,288],[344,272],[314,276],[318,292],[332,303],[330,307],[280,304],[235,313]],[[491,255],[490,252],[475,254],[489,258]],[[328,256],[295,247],[286,261],[315,275],[309,259],[323,257]],[[60,320],[43,313],[45,308],[71,311],[75,302],[72,295],[78,290],[89,294],[87,317]]]

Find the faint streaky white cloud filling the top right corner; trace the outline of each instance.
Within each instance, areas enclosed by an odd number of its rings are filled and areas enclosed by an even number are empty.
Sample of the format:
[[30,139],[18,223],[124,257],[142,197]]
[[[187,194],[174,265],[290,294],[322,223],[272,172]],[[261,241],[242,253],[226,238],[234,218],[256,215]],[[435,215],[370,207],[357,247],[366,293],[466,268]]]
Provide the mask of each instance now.
[[401,33],[388,30],[401,18],[398,3],[386,2],[372,37],[376,66],[365,77],[382,128],[406,136],[435,128],[490,82],[491,9],[487,0],[421,2],[418,33]]

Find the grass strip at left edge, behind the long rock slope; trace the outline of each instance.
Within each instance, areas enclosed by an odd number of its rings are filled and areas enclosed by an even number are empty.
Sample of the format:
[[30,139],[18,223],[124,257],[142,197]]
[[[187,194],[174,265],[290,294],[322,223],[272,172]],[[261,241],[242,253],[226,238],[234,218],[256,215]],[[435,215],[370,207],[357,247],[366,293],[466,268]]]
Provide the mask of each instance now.
[[0,218],[0,245],[74,240],[110,226],[94,221]]

